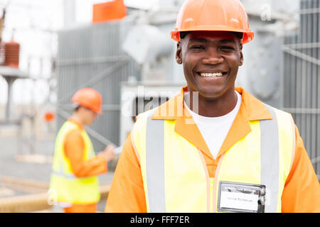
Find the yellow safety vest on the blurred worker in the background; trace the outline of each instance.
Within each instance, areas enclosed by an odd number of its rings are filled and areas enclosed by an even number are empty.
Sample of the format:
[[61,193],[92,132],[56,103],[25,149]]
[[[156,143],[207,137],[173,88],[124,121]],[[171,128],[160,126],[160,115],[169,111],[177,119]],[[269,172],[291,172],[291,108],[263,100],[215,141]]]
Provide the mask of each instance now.
[[[80,129],[75,123],[66,121],[55,140],[53,172],[50,179],[51,200],[70,202],[72,204],[92,204],[100,200],[98,177],[75,177],[70,160],[65,157],[64,139],[70,131]],[[95,152],[85,130],[80,129],[85,143],[84,159],[95,157]]]

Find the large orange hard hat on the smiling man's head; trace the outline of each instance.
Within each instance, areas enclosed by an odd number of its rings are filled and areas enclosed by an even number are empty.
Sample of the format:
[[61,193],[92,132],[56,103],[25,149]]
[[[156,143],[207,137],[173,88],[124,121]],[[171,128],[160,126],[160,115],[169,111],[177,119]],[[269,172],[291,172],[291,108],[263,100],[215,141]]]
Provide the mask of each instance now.
[[239,0],[187,0],[181,6],[171,38],[181,31],[231,31],[243,33],[242,44],[253,39],[245,8]]

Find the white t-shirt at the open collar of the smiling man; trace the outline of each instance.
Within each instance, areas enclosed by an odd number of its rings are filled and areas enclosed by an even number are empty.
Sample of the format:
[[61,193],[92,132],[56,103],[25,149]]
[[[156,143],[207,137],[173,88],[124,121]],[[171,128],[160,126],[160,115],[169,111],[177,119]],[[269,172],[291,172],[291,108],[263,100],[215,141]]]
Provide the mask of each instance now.
[[235,116],[237,116],[238,111],[240,109],[242,97],[241,94],[239,94],[238,92],[235,92],[235,94],[237,94],[238,96],[237,104],[235,105],[235,108],[232,111],[230,111],[228,114],[225,114],[224,116],[200,116],[195,112],[191,111],[191,109],[189,109],[189,107],[186,105],[186,102],[184,103],[184,106],[186,106],[186,109],[190,111],[193,120],[198,126],[199,131],[201,132],[201,135],[206,141],[210,153],[213,155],[214,158],[217,157],[221,145],[223,144],[223,141],[225,140],[225,137],[227,136],[228,131],[230,130],[231,125],[233,124],[233,121],[235,120]]

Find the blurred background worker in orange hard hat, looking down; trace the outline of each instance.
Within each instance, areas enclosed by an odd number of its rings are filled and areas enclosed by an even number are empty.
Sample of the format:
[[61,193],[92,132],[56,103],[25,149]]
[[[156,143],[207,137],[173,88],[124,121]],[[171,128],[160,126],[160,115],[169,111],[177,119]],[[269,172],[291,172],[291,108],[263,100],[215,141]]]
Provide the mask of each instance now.
[[102,97],[95,89],[80,89],[72,98],[77,104],[73,115],[60,128],[55,140],[51,199],[56,199],[65,213],[92,213],[100,200],[97,175],[107,172],[107,162],[114,157],[114,146],[107,145],[95,156],[89,135],[90,126],[102,114]]

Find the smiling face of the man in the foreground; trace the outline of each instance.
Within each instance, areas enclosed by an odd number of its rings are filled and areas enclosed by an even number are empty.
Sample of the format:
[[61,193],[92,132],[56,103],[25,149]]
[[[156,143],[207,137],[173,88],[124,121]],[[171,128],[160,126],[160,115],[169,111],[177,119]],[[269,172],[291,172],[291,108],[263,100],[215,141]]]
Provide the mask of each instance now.
[[178,43],[176,61],[183,64],[189,92],[199,92],[199,98],[217,99],[234,93],[243,63],[242,44],[232,32],[193,31]]

